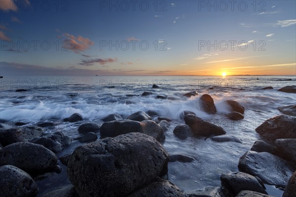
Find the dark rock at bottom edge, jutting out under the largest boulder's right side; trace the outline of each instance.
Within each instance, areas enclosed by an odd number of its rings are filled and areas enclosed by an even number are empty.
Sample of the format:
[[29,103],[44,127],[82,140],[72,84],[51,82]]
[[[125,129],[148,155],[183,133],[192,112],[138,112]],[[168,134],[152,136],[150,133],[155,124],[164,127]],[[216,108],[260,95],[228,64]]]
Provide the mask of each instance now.
[[172,182],[156,178],[145,186],[133,191],[126,197],[185,197]]

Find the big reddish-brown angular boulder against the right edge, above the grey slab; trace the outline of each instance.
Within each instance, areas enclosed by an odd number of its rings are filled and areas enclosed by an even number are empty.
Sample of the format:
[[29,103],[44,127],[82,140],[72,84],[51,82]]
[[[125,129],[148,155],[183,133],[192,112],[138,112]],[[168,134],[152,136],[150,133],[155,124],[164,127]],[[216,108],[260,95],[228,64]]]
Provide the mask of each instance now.
[[266,120],[256,131],[268,141],[280,138],[296,138],[296,117],[279,115]]

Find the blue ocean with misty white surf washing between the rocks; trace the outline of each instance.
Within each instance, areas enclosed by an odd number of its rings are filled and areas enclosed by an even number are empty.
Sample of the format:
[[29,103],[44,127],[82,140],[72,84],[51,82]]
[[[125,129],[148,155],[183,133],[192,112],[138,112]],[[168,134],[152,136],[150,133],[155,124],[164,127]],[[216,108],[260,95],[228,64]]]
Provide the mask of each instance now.
[[[159,88],[152,88],[156,84]],[[0,119],[8,120],[6,127],[15,127],[15,122],[36,125],[50,121],[56,124],[47,129],[49,134],[63,131],[76,138],[77,128],[82,123],[102,124],[101,119],[117,113],[123,118],[137,111],[153,110],[159,116],[173,119],[163,146],[169,154],[185,154],[195,159],[192,163],[169,163],[168,180],[181,190],[196,190],[207,186],[220,186],[220,175],[238,171],[239,157],[250,150],[260,137],[255,129],[266,119],[280,115],[280,106],[296,104],[296,94],[277,91],[296,85],[296,76],[4,76],[0,79]],[[272,86],[271,90],[262,88]],[[26,89],[26,92],[15,92]],[[153,95],[142,97],[150,91]],[[198,95],[187,98],[183,95],[197,91]],[[209,94],[215,102],[217,113],[210,115],[199,106],[199,98]],[[156,96],[166,99],[156,99]],[[245,107],[245,118],[231,121],[225,117],[230,112],[225,100],[236,100]],[[181,140],[173,130],[184,124],[180,114],[193,111],[196,116],[221,126],[227,134],[238,137],[242,143],[216,142],[209,138],[188,137]],[[83,121],[63,122],[64,118],[79,113]],[[157,116],[154,117],[157,120]],[[9,124],[11,123],[11,124]],[[28,126],[25,125],[25,126]],[[71,153],[81,145],[74,140],[70,147],[58,153],[58,157]],[[62,165],[63,168],[66,166]],[[69,183],[63,170],[44,180],[36,181],[39,194]],[[281,196],[283,191],[267,186],[267,193]]]

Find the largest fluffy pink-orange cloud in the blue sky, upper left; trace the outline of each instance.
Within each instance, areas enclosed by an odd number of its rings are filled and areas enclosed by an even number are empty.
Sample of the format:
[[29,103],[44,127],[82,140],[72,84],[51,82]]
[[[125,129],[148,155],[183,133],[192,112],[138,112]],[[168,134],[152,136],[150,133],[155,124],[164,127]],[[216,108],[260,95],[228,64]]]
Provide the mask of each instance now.
[[64,40],[67,42],[67,46],[65,46],[65,48],[74,51],[74,53],[84,51],[85,49],[88,49],[90,45],[94,44],[90,39],[84,38],[80,35],[78,37],[70,35],[69,33],[65,33],[64,35],[67,36]]

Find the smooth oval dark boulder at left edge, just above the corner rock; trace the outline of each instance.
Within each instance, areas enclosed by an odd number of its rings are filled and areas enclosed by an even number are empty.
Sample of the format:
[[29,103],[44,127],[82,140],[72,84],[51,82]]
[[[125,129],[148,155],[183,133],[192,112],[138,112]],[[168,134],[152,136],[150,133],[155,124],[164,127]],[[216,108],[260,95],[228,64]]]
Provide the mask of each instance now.
[[0,166],[14,165],[31,175],[46,172],[57,163],[57,156],[39,144],[17,142],[0,150]]

